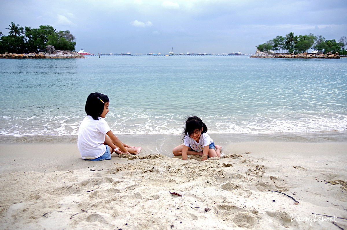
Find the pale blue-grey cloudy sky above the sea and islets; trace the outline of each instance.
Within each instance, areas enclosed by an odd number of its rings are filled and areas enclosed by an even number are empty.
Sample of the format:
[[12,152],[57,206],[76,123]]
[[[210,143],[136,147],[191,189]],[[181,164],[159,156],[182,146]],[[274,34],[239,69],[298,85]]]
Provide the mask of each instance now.
[[69,30],[76,50],[98,53],[255,53],[289,32],[347,37],[347,0],[0,0],[11,21]]

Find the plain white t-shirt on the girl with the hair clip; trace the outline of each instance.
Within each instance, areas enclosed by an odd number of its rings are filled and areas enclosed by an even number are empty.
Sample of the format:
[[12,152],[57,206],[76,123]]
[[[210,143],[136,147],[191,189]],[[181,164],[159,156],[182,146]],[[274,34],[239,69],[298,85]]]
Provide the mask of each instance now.
[[102,156],[106,151],[105,134],[110,127],[104,118],[94,120],[86,116],[78,129],[77,146],[82,159],[95,159]]

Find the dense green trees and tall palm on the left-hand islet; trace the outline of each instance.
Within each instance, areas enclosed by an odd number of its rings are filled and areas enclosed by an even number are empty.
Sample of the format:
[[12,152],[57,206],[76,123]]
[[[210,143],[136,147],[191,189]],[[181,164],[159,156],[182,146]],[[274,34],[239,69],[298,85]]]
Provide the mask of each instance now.
[[0,31],[0,53],[39,53],[45,52],[46,46],[52,45],[56,50],[74,51],[75,37],[69,30],[59,32],[52,26],[40,26],[39,28],[24,28],[11,22],[8,36],[3,36]]

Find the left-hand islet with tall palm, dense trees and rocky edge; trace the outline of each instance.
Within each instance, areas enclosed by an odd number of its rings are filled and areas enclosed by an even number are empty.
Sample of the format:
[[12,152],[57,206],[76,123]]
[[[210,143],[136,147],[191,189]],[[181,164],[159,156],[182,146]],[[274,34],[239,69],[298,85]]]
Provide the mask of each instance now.
[[0,58],[84,58],[74,51],[75,37],[69,30],[56,31],[52,26],[23,28],[14,22],[6,29],[8,36],[0,31]]

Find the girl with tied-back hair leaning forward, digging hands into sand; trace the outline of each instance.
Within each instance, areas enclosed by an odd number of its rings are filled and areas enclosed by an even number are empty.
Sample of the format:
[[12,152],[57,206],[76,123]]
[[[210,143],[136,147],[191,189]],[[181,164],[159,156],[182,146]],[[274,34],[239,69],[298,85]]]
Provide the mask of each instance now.
[[202,120],[196,116],[190,116],[185,121],[183,132],[183,145],[172,149],[175,156],[182,155],[182,159],[187,159],[187,154],[200,155],[202,160],[207,157],[220,157],[222,146],[214,145],[212,138],[206,134],[207,127]]

